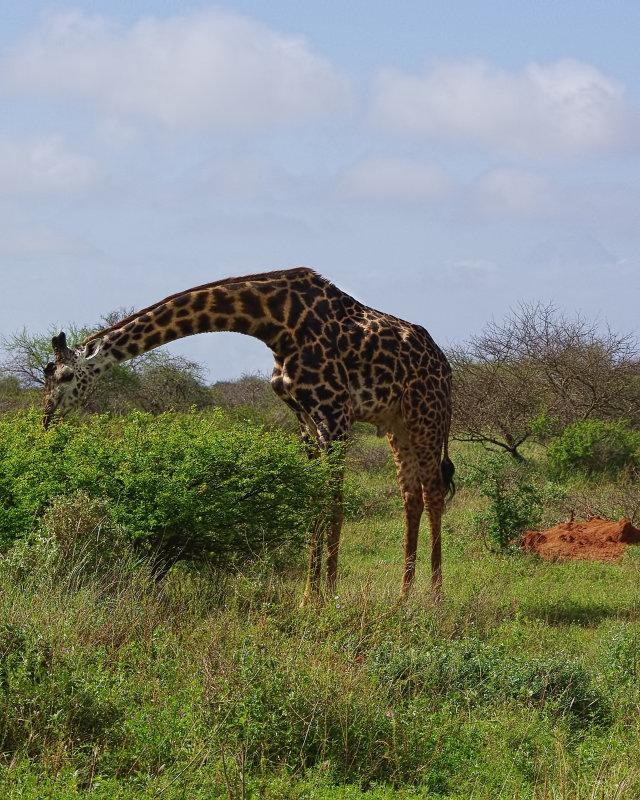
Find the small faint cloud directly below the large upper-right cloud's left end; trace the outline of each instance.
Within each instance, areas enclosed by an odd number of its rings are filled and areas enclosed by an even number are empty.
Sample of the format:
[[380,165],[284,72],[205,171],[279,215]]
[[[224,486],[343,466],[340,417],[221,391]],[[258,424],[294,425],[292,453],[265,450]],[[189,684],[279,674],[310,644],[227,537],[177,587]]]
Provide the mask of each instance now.
[[394,202],[438,200],[451,188],[451,179],[436,164],[395,157],[363,159],[341,180],[348,197]]

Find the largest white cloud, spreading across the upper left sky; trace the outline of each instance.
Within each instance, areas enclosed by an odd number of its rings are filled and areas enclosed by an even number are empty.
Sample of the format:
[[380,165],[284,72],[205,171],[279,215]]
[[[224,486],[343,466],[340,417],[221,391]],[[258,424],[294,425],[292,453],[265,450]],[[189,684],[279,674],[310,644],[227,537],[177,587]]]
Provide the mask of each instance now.
[[0,84],[187,130],[305,123],[349,95],[302,37],[220,10],[126,29],[80,11],[49,14],[6,53]]

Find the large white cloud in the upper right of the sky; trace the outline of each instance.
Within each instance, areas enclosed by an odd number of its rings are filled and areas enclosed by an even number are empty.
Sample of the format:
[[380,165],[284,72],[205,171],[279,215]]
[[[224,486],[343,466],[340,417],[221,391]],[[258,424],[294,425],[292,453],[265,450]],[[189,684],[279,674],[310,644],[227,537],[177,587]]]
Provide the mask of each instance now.
[[516,158],[566,158],[629,146],[638,110],[595,67],[563,59],[519,71],[436,62],[422,75],[378,72],[373,119],[396,133],[472,144]]

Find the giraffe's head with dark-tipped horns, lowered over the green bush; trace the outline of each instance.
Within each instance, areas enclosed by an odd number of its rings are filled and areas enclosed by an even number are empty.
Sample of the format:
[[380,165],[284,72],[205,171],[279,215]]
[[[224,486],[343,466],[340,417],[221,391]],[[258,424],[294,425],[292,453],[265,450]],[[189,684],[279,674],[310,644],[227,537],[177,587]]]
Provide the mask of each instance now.
[[53,361],[44,368],[44,404],[42,424],[45,428],[58,411],[64,416],[86,397],[95,378],[102,372],[99,354],[101,339],[67,347],[67,338],[59,333],[51,340]]

